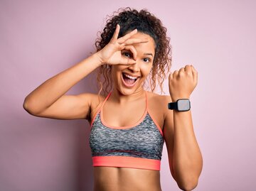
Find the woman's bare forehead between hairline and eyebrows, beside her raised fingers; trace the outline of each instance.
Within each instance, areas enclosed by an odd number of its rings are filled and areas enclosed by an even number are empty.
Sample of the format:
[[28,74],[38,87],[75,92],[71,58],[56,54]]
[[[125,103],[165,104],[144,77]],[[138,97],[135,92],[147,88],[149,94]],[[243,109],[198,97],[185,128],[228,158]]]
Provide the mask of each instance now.
[[155,45],[154,39],[151,38],[151,36],[149,36],[146,33],[137,32],[131,38],[141,38],[141,39],[142,38],[148,38],[149,41],[146,42],[146,43],[133,44],[134,48],[136,48],[139,51],[152,53],[154,55],[156,45]]

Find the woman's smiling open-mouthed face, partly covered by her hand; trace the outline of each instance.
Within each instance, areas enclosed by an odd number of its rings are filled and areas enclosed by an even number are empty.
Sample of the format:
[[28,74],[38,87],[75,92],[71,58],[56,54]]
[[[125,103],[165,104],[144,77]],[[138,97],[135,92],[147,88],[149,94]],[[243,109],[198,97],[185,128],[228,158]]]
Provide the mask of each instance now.
[[[136,33],[132,38],[149,38],[147,43],[134,44],[137,51],[136,63],[133,65],[112,65],[112,79],[114,89],[127,95],[142,90],[142,84],[153,66],[155,43],[151,36],[145,33]],[[122,56],[133,58],[130,50],[122,50]]]

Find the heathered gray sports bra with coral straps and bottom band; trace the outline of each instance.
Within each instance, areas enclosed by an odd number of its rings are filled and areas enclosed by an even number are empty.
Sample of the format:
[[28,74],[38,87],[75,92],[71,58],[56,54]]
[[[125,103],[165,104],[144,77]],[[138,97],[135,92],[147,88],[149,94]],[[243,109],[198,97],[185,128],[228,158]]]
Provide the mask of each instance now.
[[[110,92],[111,94],[112,92]],[[133,126],[108,126],[102,118],[102,106],[91,123],[90,148],[93,166],[160,170],[164,146],[163,132],[146,109]]]

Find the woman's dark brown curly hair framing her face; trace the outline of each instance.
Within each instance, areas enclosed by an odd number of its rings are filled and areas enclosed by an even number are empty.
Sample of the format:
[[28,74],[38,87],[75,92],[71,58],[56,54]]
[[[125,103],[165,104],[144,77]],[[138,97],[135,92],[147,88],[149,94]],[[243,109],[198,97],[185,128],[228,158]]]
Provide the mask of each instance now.
[[[170,38],[166,36],[167,30],[159,18],[156,18],[156,16],[146,9],[137,11],[129,7],[118,9],[117,12],[114,12],[112,16],[108,17],[110,18],[107,19],[107,24],[102,33],[100,33],[100,38],[97,38],[95,42],[97,51],[102,50],[102,48],[110,42],[117,24],[120,26],[118,38],[135,28],[137,28],[138,32],[146,33],[151,36],[151,38],[154,39],[156,47],[153,66],[148,76],[150,79],[149,86],[151,92],[154,92],[156,85],[160,84],[162,93],[163,83],[166,79],[166,70],[169,72],[171,68],[171,45]],[[110,92],[113,86],[111,76],[110,65],[101,65],[98,68],[97,87],[100,89],[98,94],[100,94],[102,90],[104,95]],[[143,87],[145,87],[145,84],[144,82]]]

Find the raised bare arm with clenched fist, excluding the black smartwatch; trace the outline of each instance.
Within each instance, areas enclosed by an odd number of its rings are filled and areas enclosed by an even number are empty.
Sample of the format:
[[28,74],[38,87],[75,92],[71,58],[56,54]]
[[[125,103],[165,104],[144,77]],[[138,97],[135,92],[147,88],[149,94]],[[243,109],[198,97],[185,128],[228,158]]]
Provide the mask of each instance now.
[[[169,76],[171,97],[168,102],[177,99],[189,99],[197,84],[197,72],[193,66],[186,65]],[[203,158],[193,131],[191,110],[172,111],[166,109],[164,120],[164,138],[169,155],[171,175],[181,190],[193,190],[203,168]]]

